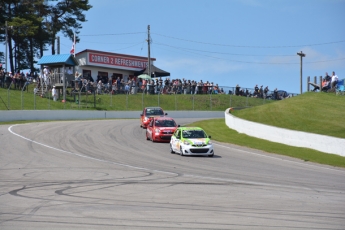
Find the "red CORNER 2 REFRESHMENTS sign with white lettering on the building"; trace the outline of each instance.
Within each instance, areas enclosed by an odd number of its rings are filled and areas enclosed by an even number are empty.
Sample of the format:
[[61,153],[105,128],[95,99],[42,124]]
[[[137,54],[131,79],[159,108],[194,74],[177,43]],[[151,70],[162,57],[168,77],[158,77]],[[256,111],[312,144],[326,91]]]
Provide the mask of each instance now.
[[124,68],[145,69],[147,61],[139,58],[120,57],[106,54],[89,53],[89,63],[110,65]]

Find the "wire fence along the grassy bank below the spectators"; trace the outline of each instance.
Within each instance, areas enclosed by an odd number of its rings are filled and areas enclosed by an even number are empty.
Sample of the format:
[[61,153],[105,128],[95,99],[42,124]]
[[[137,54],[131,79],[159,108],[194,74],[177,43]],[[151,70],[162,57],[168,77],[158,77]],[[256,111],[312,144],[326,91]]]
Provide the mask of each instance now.
[[[61,80],[61,79],[60,79]],[[59,80],[59,81],[60,81]],[[28,83],[25,87],[15,89],[12,84],[0,88],[0,110],[142,110],[147,106],[160,106],[165,110],[224,111],[226,108],[247,108],[270,103],[276,98],[272,91],[267,94],[255,95],[254,90],[242,88],[235,95],[236,87],[221,86],[224,93],[206,91],[169,92],[154,86],[113,88],[105,85],[100,90],[96,84],[82,84],[75,89],[68,87],[66,100],[53,101],[51,91],[36,94],[36,83]],[[285,92],[285,91],[284,91]],[[286,93],[292,97],[297,94]]]

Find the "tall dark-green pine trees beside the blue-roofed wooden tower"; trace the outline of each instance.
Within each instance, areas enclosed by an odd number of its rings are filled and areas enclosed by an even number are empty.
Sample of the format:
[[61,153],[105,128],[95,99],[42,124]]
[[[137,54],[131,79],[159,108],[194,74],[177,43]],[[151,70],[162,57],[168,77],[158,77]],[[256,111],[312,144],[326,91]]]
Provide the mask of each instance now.
[[[82,23],[86,22],[85,11],[91,9],[89,0],[1,0],[0,42],[7,45],[8,68],[15,72],[30,69],[51,47],[55,54],[56,35],[61,32],[76,43]],[[6,44],[7,29],[7,44]],[[4,63],[6,54],[0,52]]]

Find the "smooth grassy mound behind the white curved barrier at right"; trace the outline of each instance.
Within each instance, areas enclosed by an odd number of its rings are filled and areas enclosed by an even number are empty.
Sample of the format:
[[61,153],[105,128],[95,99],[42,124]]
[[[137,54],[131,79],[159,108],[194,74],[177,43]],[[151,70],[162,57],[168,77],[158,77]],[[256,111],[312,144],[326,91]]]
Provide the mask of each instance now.
[[308,92],[233,114],[267,125],[345,138],[345,96],[334,93]]

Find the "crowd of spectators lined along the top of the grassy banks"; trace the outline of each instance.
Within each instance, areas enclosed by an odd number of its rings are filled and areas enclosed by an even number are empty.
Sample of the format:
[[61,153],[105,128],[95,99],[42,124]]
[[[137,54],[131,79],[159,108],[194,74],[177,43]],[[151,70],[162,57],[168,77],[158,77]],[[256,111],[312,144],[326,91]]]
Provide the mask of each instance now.
[[[73,75],[71,68],[66,70],[66,73]],[[41,82],[49,85],[49,68],[44,68],[42,74],[39,76],[36,73],[26,73],[17,71],[16,73],[4,72],[4,69],[0,70],[0,87],[9,88],[13,86],[14,89],[25,90],[26,86],[32,82],[37,82],[38,87]],[[73,76],[72,76],[73,77]],[[128,80],[120,76],[97,76],[96,81],[90,76],[82,76],[76,72],[71,82],[72,88],[76,91],[84,91],[88,93],[97,94],[135,94],[135,93],[147,93],[147,94],[225,94],[226,92],[218,84],[203,80],[187,80],[187,79],[170,79],[169,77],[162,79],[162,77],[154,79],[141,79],[137,76],[132,76]],[[325,77],[322,80],[321,91],[330,92],[335,89],[338,82],[338,76],[333,71],[332,76],[329,76],[326,72]],[[310,83],[311,84],[311,83]],[[320,90],[320,88],[314,85],[314,91]],[[253,89],[241,88],[239,85],[231,88],[228,94],[245,97],[255,98],[271,98],[271,99],[284,99],[290,97],[286,91],[278,90],[270,91],[268,86],[265,88],[263,85],[260,87],[255,85]]]

